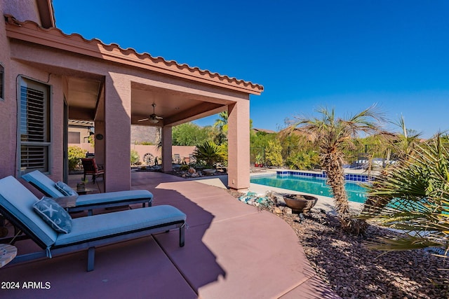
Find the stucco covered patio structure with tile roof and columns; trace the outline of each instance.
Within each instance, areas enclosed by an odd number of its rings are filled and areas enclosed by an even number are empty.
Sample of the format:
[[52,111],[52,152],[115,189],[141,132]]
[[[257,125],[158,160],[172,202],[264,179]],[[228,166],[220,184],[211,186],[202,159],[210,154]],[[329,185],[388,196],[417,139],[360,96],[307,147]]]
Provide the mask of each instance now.
[[[50,90],[47,123],[51,138],[46,146],[51,153],[42,158],[48,160],[48,169],[44,165],[41,171],[52,179],[67,181],[69,119],[95,123],[95,159],[105,165],[105,190],[116,191],[129,190],[131,185],[130,125],[160,128],[161,165],[164,172],[170,172],[172,127],[227,111],[229,188],[249,187],[249,99],[260,95],[262,85],[98,39],[86,40],[79,34],[67,35],[56,27],[43,28],[13,15],[5,18],[11,78],[27,74]],[[14,84],[6,87],[8,94],[15,95]],[[11,111],[15,108],[11,106]],[[9,160],[16,154],[4,153]],[[15,176],[30,170],[16,166]]]

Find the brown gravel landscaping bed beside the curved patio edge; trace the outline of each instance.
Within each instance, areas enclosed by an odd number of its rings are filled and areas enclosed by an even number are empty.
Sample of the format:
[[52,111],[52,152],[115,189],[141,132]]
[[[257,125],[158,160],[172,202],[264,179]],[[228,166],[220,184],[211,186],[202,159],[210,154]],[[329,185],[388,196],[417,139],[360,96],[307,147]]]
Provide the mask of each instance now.
[[384,253],[363,246],[368,239],[393,234],[390,230],[370,225],[366,236],[352,236],[322,211],[300,217],[288,208],[261,208],[291,226],[311,266],[342,298],[449,298],[449,271],[438,270],[449,268],[449,259],[424,250]]

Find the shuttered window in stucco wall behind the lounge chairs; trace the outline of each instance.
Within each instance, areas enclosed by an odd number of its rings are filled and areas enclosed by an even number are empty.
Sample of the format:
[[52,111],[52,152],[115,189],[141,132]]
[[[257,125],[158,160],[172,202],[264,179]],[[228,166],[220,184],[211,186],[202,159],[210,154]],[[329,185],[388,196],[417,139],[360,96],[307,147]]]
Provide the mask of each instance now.
[[51,146],[49,95],[48,85],[20,78],[20,174],[33,170],[48,172]]

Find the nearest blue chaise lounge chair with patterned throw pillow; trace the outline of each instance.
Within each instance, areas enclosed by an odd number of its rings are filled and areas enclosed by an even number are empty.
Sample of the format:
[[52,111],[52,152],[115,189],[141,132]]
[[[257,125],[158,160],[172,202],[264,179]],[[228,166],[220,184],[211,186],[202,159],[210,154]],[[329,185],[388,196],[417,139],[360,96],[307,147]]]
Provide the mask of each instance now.
[[[45,204],[51,204],[51,207]],[[38,206],[45,209],[39,209]],[[36,207],[39,211],[36,211]],[[52,217],[39,215],[44,211]],[[67,211],[58,207],[51,198],[43,197],[42,200],[38,200],[13,176],[0,179],[0,213],[43,249],[35,253],[18,255],[11,263],[46,256],[51,258],[53,255],[87,249],[87,270],[92,271],[95,247],[175,228],[180,230],[180,247],[185,244],[186,215],[175,207],[161,205],[72,219]],[[57,215],[54,216],[55,214]],[[65,221],[61,221],[63,218]],[[51,222],[48,222],[49,220]],[[57,231],[63,227],[62,224],[67,223],[70,224],[70,230]],[[4,239],[1,242],[4,242]]]

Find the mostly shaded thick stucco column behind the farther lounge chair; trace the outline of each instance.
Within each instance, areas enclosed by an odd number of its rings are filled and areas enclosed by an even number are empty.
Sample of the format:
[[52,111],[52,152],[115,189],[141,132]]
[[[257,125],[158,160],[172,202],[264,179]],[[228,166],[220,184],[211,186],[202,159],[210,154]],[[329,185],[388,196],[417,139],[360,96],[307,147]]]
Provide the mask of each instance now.
[[105,83],[105,191],[130,190],[131,84],[109,73]]

